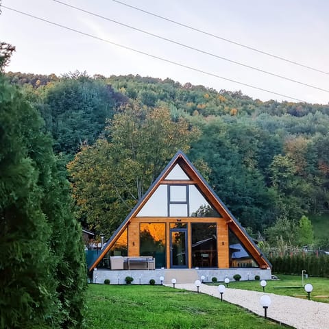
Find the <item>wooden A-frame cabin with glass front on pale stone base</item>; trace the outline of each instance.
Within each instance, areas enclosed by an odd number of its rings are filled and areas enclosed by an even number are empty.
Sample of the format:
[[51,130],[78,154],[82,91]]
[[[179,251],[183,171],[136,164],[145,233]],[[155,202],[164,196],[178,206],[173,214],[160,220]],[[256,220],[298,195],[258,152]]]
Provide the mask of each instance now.
[[[242,280],[271,278],[267,258],[182,151],[103,246],[93,269],[101,283],[103,278],[116,283],[118,273],[138,269],[145,270],[142,283],[158,281],[169,269],[171,276],[173,269],[194,269],[209,280],[235,273]],[[137,276],[141,283],[142,273]]]

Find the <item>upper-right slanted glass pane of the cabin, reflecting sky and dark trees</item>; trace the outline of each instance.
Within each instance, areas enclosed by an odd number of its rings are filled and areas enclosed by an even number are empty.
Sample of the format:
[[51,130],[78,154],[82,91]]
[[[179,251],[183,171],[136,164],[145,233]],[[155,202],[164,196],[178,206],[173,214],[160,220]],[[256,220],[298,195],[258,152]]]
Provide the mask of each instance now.
[[221,215],[210,206],[195,185],[190,185],[189,188],[191,217],[221,217]]

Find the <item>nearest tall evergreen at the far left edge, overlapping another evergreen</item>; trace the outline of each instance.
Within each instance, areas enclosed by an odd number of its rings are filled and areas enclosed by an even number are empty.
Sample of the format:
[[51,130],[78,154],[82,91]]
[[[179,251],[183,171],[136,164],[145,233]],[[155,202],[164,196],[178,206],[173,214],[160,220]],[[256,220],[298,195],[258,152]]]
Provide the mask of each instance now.
[[0,76],[0,328],[59,328],[51,230],[29,131],[40,118]]

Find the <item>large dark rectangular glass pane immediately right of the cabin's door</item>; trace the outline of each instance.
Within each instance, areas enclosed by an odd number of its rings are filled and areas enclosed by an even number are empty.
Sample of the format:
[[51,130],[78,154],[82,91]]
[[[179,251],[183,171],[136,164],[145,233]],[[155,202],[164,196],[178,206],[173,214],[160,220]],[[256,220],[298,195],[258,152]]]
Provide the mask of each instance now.
[[192,223],[192,267],[217,267],[216,223]]

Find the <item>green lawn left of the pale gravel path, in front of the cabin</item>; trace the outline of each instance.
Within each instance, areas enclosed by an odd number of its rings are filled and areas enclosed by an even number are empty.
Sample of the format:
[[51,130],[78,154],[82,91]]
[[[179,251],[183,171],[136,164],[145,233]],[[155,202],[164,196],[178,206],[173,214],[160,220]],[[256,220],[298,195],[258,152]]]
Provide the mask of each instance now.
[[282,328],[218,298],[164,286],[89,284],[87,295],[88,329]]

